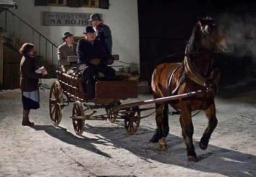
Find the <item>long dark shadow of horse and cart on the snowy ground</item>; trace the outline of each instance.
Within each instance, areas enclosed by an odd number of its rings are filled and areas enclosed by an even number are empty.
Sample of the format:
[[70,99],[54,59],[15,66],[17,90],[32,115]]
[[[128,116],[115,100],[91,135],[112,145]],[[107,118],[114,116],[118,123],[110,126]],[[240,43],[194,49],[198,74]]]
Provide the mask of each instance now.
[[[219,146],[208,145],[208,149],[203,151],[199,148],[199,141],[194,140],[195,151],[199,162],[187,161],[187,150],[183,143],[182,137],[169,134],[167,137],[167,150],[161,150],[158,143],[150,143],[149,140],[154,134],[154,130],[139,127],[136,135],[129,136],[131,141],[140,142],[138,145],[132,146],[123,139],[116,139],[109,135],[107,127],[101,127],[102,132],[97,133],[111,141],[115,146],[129,150],[132,154],[137,155],[144,160],[151,159],[165,164],[174,164],[177,166],[199,170],[207,173],[219,173],[228,176],[255,176],[256,157],[250,154],[245,154],[239,151],[225,149]],[[90,127],[90,132],[94,132],[94,127]],[[142,133],[140,133],[142,132]],[[211,157],[211,158],[210,158]],[[211,161],[211,159],[214,159]],[[218,162],[218,164],[216,164]],[[212,167],[211,167],[212,164]],[[216,166],[219,166],[216,169]]]

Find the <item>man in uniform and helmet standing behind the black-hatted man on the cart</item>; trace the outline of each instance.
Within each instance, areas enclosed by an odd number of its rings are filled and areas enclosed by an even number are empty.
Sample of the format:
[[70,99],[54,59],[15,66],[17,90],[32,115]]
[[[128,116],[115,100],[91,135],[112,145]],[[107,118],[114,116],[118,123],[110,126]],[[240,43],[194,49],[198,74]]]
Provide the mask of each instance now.
[[109,54],[112,54],[112,35],[109,26],[103,23],[100,14],[91,14],[90,20],[92,26],[97,30],[96,39],[100,39],[101,42],[106,43],[108,46]]

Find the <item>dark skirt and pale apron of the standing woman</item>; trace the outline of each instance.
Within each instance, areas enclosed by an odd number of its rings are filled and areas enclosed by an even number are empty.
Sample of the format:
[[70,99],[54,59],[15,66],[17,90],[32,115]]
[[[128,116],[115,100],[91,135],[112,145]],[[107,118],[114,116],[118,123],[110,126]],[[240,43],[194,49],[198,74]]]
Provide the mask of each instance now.
[[24,110],[40,108],[39,102],[39,90],[33,92],[22,92],[22,104]]

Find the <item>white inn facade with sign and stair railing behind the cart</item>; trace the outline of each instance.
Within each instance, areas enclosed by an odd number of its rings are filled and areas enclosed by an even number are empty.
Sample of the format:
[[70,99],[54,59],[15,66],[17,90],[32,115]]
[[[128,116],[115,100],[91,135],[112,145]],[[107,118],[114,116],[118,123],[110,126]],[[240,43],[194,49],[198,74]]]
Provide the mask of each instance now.
[[[53,2],[64,5],[50,4]],[[74,2],[91,4],[86,7],[86,4],[76,5]],[[101,8],[98,3],[108,3],[108,7]],[[124,62],[114,62],[113,66],[117,66],[115,70],[121,67],[130,67],[131,72],[139,70],[136,64],[126,64],[139,63],[137,0],[19,0],[16,4],[17,9],[9,9],[7,13],[3,11],[0,14],[0,27],[8,31],[10,36],[18,38],[19,42],[33,43],[39,55],[55,66],[59,66],[56,46],[63,43],[63,33],[71,32],[75,40],[83,38],[85,27],[91,26],[88,21],[90,14],[98,13],[112,31],[112,54],[118,54],[119,60]]]

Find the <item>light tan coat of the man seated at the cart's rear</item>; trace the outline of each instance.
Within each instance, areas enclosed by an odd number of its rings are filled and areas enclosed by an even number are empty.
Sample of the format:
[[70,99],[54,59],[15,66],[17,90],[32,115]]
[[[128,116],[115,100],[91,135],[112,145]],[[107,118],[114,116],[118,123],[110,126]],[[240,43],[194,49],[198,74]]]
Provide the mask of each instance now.
[[73,43],[72,51],[69,46],[65,43],[61,44],[58,48],[58,60],[60,65],[70,66],[70,62],[67,61],[68,56],[77,55],[77,43]]

